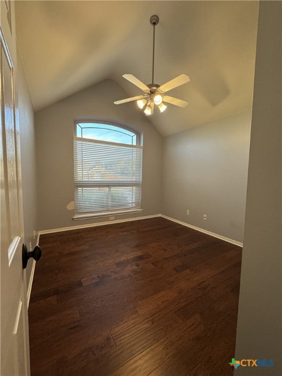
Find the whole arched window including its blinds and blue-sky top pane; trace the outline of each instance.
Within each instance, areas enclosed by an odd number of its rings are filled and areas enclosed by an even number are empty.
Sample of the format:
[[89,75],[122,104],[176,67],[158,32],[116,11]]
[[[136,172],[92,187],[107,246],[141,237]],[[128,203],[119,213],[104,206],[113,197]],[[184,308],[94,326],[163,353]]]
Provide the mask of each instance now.
[[74,219],[141,211],[141,133],[114,120],[74,121]]

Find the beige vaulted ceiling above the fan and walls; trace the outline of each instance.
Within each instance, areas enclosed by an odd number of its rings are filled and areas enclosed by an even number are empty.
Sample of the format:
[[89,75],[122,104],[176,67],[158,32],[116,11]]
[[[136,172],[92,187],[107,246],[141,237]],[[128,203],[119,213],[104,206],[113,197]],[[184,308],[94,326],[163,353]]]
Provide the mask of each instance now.
[[[168,93],[188,107],[168,105],[148,117],[162,135],[252,106],[258,1],[16,1],[17,38],[35,111],[106,78],[128,96],[142,94],[122,74],[151,83],[153,14],[160,18],[155,82],[181,73],[191,79]],[[136,104],[120,106],[126,111]]]

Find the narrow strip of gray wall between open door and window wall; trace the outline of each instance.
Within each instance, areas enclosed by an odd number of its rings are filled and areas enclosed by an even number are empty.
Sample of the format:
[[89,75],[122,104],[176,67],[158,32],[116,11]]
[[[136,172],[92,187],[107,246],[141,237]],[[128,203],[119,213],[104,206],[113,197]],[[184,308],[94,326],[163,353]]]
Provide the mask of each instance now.
[[[19,49],[17,50],[17,85],[22,156],[24,241],[27,244],[28,249],[29,243],[31,242],[33,249],[36,245],[38,229],[34,114]],[[33,230],[36,231],[35,239],[33,238]],[[29,283],[31,268],[32,262],[29,261],[26,267],[27,286]]]

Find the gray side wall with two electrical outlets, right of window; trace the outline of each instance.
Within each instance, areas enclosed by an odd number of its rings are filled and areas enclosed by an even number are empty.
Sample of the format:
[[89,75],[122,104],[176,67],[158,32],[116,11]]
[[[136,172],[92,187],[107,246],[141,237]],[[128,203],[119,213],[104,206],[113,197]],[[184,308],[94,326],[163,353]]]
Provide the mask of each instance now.
[[243,240],[251,117],[248,110],[164,138],[163,214]]

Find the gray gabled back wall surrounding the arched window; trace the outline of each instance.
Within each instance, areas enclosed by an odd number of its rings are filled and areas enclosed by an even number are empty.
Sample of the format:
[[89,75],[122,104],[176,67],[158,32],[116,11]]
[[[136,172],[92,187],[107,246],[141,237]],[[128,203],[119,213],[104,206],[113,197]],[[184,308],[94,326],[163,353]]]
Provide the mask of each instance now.
[[73,221],[74,200],[73,118],[100,117],[120,120],[143,132],[143,179],[141,214],[116,219],[158,214],[161,210],[162,138],[135,103],[115,105],[127,94],[112,80],[102,81],[35,114],[38,162],[39,230],[103,222],[109,217]]

